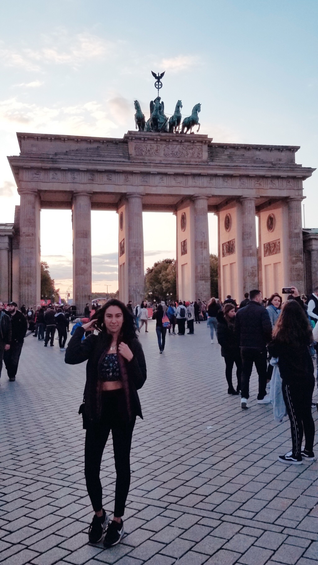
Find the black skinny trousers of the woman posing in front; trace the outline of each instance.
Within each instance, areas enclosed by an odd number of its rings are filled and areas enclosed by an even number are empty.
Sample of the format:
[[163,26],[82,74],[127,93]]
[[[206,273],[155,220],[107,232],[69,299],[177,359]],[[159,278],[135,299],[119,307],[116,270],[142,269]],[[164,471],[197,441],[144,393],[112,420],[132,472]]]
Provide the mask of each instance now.
[[136,416],[128,420],[123,389],[102,392],[101,419],[89,426],[85,437],[85,479],[93,510],[102,510],[100,469],[109,432],[113,436],[116,470],[115,518],[124,515],[130,487],[130,448]]

